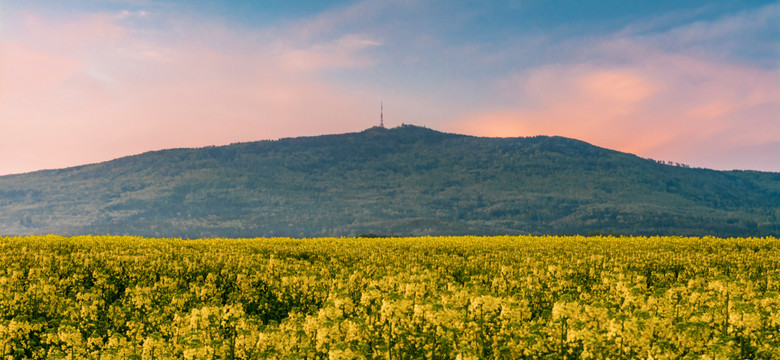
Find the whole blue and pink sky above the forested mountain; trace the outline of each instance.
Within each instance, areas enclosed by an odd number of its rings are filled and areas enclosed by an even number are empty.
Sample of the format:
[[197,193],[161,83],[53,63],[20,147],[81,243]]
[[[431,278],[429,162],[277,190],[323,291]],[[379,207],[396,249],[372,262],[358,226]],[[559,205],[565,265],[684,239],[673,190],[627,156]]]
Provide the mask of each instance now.
[[0,0],[0,175],[403,123],[780,171],[776,1]]

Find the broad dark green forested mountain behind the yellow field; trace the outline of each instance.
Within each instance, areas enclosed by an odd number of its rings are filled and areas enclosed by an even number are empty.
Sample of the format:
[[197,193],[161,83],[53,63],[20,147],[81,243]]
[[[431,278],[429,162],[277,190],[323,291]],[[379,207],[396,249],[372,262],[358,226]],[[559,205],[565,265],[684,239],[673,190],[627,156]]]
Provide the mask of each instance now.
[[0,177],[0,234],[780,234],[780,173],[404,125]]

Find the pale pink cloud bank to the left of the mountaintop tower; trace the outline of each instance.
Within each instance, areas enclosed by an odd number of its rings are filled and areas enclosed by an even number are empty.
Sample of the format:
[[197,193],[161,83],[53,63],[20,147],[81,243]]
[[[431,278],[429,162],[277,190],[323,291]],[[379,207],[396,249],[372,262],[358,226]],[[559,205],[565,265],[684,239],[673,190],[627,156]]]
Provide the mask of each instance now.
[[144,35],[124,18],[28,16],[0,43],[0,174],[373,125],[375,96],[318,74],[365,66],[369,38],[257,45],[186,20],[186,36]]

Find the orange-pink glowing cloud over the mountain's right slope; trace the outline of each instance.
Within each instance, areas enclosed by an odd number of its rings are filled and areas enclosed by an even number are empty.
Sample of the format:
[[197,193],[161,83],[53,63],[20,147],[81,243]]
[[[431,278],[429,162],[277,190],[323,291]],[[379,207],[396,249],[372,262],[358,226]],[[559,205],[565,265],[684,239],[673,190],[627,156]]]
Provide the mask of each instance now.
[[[503,85],[514,92],[516,105],[472,113],[453,130],[485,136],[561,135],[721,169],[744,163],[715,154],[780,141],[776,71],[625,41],[604,44],[602,50],[619,50],[630,61],[530,69],[511,86]],[[778,166],[776,152],[762,168]]]

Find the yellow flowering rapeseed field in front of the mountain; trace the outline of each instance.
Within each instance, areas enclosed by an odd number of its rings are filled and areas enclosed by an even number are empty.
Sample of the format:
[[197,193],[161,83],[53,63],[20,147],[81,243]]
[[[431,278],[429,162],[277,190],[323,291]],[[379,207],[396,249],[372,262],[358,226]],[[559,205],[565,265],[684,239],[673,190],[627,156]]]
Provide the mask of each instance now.
[[0,237],[2,358],[780,359],[780,240]]

